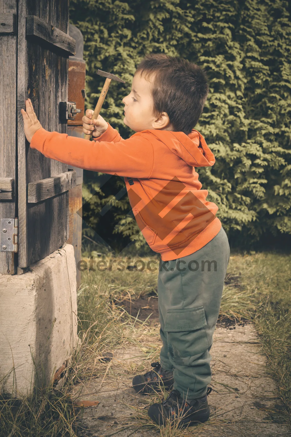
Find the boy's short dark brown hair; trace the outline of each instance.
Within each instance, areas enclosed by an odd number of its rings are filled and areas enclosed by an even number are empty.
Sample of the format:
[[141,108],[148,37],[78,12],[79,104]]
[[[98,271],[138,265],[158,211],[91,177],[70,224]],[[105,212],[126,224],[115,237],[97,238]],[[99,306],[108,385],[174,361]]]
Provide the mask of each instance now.
[[174,131],[188,135],[202,113],[208,84],[205,71],[186,59],[162,53],[146,55],[135,72],[148,78],[152,85],[154,115],[166,112]]

